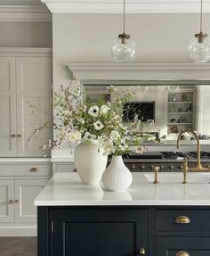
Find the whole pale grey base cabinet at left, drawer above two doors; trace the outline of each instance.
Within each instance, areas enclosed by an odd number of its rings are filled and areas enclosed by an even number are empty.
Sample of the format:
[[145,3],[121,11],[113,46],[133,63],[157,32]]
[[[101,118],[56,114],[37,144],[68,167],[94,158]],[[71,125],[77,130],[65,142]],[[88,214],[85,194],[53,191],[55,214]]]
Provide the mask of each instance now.
[[0,236],[36,235],[34,200],[51,176],[50,160],[0,162]]

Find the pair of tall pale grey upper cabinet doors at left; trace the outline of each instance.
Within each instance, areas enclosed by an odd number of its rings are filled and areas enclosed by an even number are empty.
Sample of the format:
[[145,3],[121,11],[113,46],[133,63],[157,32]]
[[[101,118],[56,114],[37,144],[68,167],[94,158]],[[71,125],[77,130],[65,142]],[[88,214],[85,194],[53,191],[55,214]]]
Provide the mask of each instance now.
[[50,154],[40,149],[51,138],[49,129],[28,146],[27,140],[36,127],[52,120],[51,70],[51,57],[0,57],[0,156]]

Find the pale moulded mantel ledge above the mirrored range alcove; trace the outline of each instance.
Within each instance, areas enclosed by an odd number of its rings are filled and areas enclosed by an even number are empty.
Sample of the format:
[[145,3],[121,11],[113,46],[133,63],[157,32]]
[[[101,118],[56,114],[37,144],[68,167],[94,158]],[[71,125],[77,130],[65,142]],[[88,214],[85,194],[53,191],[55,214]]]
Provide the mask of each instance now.
[[210,80],[210,63],[66,63],[81,80]]

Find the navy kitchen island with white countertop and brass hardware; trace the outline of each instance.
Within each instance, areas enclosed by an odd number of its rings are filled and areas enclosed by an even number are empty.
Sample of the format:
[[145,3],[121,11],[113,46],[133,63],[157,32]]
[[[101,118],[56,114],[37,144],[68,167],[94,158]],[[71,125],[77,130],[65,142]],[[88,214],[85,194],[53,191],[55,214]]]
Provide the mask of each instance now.
[[[56,173],[36,197],[38,256],[209,256],[210,174],[153,185],[133,173],[125,192]],[[200,173],[199,175],[203,175]]]

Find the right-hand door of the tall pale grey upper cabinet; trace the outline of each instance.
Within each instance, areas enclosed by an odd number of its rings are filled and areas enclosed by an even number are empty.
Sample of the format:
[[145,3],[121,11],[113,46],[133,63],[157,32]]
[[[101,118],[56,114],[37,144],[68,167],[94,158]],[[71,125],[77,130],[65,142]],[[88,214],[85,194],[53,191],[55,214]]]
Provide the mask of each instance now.
[[47,152],[40,147],[48,143],[51,131],[44,129],[36,133],[33,143],[27,144],[27,141],[36,127],[51,121],[51,58],[18,57],[16,70],[18,155],[42,157]]

